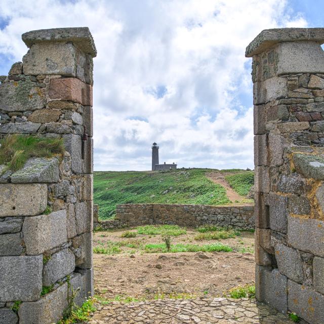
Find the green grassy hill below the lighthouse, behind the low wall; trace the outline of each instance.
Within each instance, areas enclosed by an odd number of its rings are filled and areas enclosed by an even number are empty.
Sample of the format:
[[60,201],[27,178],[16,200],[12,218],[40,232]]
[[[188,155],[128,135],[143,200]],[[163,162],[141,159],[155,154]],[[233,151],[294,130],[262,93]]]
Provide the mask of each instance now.
[[[211,171],[215,170],[94,172],[94,203],[99,205],[100,219],[113,217],[119,204],[229,204],[226,190],[205,176]],[[236,176],[239,178],[233,186],[236,191],[237,188],[246,191],[253,184],[253,172],[239,169],[220,172],[233,173],[234,180]]]

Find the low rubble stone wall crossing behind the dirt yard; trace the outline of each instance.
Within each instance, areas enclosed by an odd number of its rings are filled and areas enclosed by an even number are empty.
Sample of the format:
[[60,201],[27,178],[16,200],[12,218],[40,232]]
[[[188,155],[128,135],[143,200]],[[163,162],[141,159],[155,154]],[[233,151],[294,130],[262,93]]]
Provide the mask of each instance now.
[[254,228],[253,206],[210,206],[181,204],[118,205],[113,220],[99,222],[102,228],[132,227],[147,224],[176,224],[197,227],[205,224]]

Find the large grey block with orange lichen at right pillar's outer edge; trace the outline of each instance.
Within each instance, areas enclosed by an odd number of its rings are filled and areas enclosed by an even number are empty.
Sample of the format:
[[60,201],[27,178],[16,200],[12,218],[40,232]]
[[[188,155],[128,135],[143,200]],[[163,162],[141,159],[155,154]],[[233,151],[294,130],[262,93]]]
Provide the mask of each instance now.
[[324,221],[289,216],[287,236],[293,248],[324,257]]

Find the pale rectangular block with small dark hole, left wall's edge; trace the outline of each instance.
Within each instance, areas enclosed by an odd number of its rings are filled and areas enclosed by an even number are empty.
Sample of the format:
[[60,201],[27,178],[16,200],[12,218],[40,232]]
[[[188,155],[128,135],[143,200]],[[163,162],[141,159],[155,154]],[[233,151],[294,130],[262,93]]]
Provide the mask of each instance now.
[[0,184],[0,217],[34,216],[47,206],[46,184]]

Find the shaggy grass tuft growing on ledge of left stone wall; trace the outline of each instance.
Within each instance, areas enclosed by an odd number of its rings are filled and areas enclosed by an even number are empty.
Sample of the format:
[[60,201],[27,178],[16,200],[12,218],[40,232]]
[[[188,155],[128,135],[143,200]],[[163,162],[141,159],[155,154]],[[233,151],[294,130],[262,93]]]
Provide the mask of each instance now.
[[7,135],[0,140],[0,165],[21,169],[30,157],[53,157],[64,153],[63,139],[33,135]]

